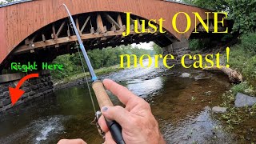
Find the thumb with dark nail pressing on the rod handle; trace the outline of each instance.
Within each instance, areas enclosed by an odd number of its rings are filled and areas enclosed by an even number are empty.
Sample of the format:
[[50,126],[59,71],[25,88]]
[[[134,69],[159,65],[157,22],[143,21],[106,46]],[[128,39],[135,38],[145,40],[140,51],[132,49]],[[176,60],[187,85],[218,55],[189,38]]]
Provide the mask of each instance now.
[[130,126],[130,112],[122,106],[103,106],[102,114],[106,119],[118,122],[122,128],[124,128],[123,126]]

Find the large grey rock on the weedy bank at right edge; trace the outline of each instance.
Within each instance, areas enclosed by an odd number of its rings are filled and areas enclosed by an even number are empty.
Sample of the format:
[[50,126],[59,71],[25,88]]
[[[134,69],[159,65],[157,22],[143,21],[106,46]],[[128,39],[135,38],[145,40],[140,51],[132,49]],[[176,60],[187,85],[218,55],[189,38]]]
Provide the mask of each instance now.
[[254,106],[255,103],[256,103],[256,98],[250,97],[246,94],[238,93],[235,98],[234,106],[236,107]]

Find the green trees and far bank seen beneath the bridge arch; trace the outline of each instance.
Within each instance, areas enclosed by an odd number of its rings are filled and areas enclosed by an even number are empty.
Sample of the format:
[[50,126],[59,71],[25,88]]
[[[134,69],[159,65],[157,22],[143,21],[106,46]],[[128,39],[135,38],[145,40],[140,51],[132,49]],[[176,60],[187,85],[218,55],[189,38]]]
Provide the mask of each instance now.
[[[87,53],[94,67],[95,73],[98,76],[101,76],[102,74],[110,74],[113,72],[118,72],[119,70],[124,70],[120,67],[119,63],[119,56],[122,54],[136,54],[138,57],[142,56],[143,54],[153,56],[154,54],[162,54],[162,49],[156,44],[152,46],[152,50],[139,49],[136,46],[128,45],[117,46],[115,48],[108,47],[102,50],[89,50]],[[90,73],[86,66],[86,62],[83,57],[81,58],[83,66],[85,66],[86,77],[90,79]],[[130,58],[130,62],[132,67],[134,65],[134,57]],[[59,56],[54,60],[53,63],[62,63],[64,65],[64,70],[51,71],[55,86],[85,78],[85,73],[82,70],[82,63],[79,58],[79,53]],[[123,65],[127,65],[126,58],[124,59]]]

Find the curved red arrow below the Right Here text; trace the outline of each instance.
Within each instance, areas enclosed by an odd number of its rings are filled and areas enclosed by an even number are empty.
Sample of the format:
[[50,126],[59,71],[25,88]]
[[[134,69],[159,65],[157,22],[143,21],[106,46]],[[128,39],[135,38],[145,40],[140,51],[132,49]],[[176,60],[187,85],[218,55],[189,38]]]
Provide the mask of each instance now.
[[19,82],[18,85],[15,88],[9,87],[10,91],[10,99],[11,103],[14,106],[14,104],[18,101],[19,98],[22,97],[22,95],[25,93],[23,90],[19,90],[19,88],[22,86],[22,84],[30,78],[38,78],[39,74],[29,74],[26,75],[26,77],[22,78]]

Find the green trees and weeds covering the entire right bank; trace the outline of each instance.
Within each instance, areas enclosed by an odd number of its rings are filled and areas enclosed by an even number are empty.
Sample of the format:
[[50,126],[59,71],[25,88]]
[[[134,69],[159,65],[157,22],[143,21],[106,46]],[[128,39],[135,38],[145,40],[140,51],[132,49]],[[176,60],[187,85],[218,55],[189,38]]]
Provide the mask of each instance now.
[[[228,18],[234,23],[230,34],[211,39],[190,40],[192,53],[223,52],[230,46],[230,61],[233,70],[242,74],[243,82],[234,83],[230,90],[222,94],[219,106],[226,108],[224,114],[214,114],[220,122],[227,125],[227,130],[238,134],[239,140],[254,144],[256,104],[254,106],[236,107],[235,100],[238,93],[256,97],[256,2],[232,0],[183,0],[183,2],[200,6],[214,11],[228,12]],[[223,57],[226,62],[226,55]],[[226,64],[226,63],[224,63]]]

